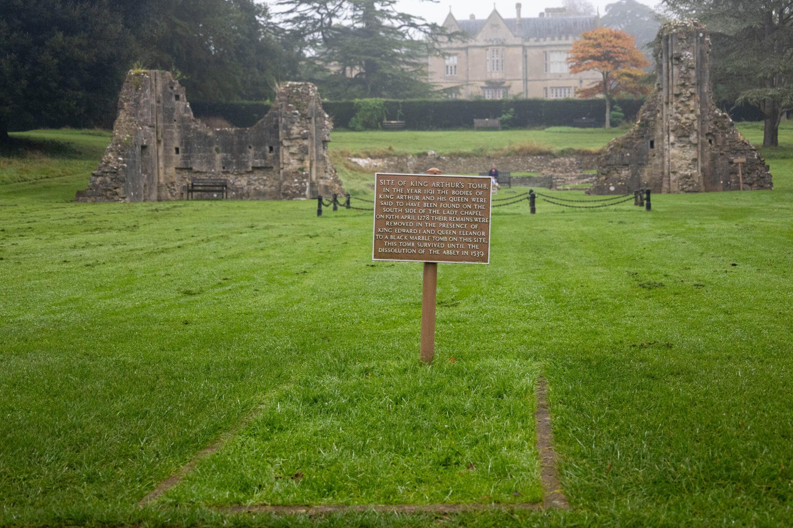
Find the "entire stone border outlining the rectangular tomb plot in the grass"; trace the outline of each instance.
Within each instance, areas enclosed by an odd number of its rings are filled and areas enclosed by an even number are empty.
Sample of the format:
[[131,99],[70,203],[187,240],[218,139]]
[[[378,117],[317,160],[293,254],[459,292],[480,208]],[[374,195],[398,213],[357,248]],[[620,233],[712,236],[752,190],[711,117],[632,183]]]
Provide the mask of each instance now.
[[[554,450],[554,433],[550,428],[550,412],[548,411],[548,386],[546,378],[540,376],[537,379],[537,411],[534,412],[534,420],[537,427],[537,450],[540,455],[540,481],[542,482],[543,501],[540,503],[490,503],[490,504],[325,504],[316,506],[271,506],[269,504],[251,504],[249,506],[227,506],[217,508],[220,511],[228,513],[273,513],[275,515],[297,515],[305,514],[309,516],[324,515],[328,513],[335,513],[339,511],[377,511],[381,513],[457,513],[462,511],[514,511],[514,510],[551,510],[551,509],[569,509],[569,503],[564,492],[561,491],[561,484],[559,484],[559,477],[557,473],[557,456]],[[159,484],[157,488],[143,498],[138,503],[140,507],[144,507],[147,503],[157,500],[159,496],[173,488],[176,484],[182,481],[187,473],[193,470],[196,463],[216,450],[219,450],[223,444],[236,434],[237,431],[242,429],[248,424],[256,415],[259,414],[262,407],[261,405],[249,412],[243,420],[239,421],[229,431],[228,434],[223,435],[212,445],[208,446],[201,453],[197,454],[190,462],[182,465],[176,473],[168,477],[165,481]]]

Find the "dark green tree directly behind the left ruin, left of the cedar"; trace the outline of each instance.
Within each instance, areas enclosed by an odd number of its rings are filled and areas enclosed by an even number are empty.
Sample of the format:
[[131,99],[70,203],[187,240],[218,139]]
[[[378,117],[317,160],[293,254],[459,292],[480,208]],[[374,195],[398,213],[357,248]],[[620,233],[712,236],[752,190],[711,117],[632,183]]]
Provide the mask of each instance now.
[[188,97],[264,99],[282,76],[267,7],[254,0],[111,0],[144,66],[178,70]]

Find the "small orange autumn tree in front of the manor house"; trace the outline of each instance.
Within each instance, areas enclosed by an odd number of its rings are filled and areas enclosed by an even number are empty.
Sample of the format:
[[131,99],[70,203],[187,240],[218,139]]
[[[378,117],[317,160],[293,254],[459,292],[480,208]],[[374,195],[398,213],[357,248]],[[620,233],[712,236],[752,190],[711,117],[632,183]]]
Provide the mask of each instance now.
[[619,29],[595,28],[581,33],[580,40],[573,42],[567,58],[571,74],[586,70],[600,71],[603,79],[587,88],[577,89],[580,97],[602,94],[606,99],[606,128],[611,127],[611,97],[615,93],[646,94],[649,87],[639,84],[644,75],[641,68],[649,66],[636,49],[634,37]]

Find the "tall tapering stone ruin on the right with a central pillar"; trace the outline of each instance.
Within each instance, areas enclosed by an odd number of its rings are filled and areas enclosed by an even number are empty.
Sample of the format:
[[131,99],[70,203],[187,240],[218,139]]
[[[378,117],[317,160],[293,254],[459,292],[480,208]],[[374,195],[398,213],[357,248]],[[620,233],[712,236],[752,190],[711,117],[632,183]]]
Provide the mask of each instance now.
[[661,27],[655,40],[658,78],[637,123],[611,141],[598,161],[591,194],[772,189],[768,165],[713,104],[710,46],[697,20]]

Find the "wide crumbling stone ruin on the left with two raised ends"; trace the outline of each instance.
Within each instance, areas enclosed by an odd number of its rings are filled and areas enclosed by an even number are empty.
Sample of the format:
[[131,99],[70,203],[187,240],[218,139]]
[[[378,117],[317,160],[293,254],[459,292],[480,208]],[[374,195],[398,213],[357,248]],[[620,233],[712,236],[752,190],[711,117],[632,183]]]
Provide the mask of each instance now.
[[78,202],[186,199],[193,177],[228,180],[231,199],[344,192],[328,156],[333,124],[311,83],[279,86],[270,112],[250,128],[212,129],[195,119],[167,71],[130,71],[118,108],[113,140]]

